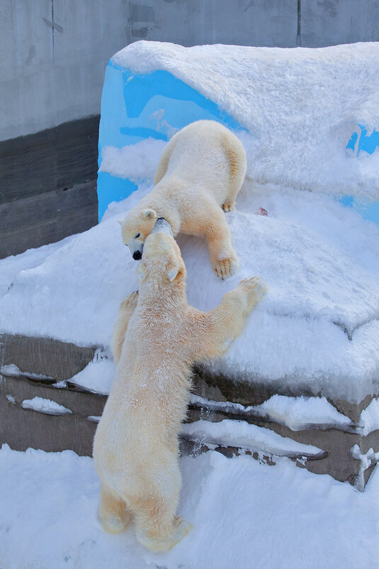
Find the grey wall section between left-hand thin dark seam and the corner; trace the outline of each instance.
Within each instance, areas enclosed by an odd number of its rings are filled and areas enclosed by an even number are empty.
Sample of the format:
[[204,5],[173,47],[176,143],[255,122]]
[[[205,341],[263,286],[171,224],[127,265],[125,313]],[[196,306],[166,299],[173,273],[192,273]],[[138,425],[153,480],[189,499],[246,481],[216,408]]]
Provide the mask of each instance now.
[[122,0],[53,0],[53,6],[51,89],[62,123],[100,112],[106,65],[129,38]]

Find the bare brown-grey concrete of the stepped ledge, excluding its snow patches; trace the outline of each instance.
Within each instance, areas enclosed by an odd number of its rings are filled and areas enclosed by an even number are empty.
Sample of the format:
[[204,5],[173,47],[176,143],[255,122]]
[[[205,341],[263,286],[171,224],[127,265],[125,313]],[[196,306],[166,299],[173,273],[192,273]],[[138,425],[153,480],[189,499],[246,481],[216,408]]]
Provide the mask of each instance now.
[[[81,348],[74,344],[46,338],[26,336],[1,336],[0,375],[0,443],[9,443],[11,448],[25,450],[29,446],[45,451],[62,451],[71,448],[79,455],[91,455],[96,421],[101,416],[106,395],[97,394],[69,382],[92,360],[96,347]],[[21,372],[16,375],[9,365],[16,365]],[[4,368],[8,366],[8,368]],[[27,371],[26,371],[27,370]],[[361,410],[367,407],[368,397],[353,406],[339,402],[339,409],[353,421],[346,426],[310,425],[293,431],[288,426],[265,419],[242,409],[225,410],[225,401],[259,405],[269,399],[272,392],[264,392],[264,384],[258,386],[244,382],[234,383],[227,377],[212,377],[197,370],[193,378],[194,393],[208,398],[212,405],[193,402],[188,407],[188,422],[205,419],[218,422],[222,419],[244,420],[250,424],[274,431],[281,437],[305,445],[316,446],[323,453],[316,457],[298,455],[293,457],[298,465],[313,473],[329,474],[336,480],[359,486],[366,483],[373,464],[362,470],[361,460],[353,458],[351,448],[358,445],[362,455],[370,448],[379,451],[379,430],[362,436],[358,419]],[[297,394],[298,395],[298,394]],[[226,397],[227,396],[227,397]],[[56,415],[22,407],[25,399],[42,397],[62,405],[71,413]],[[206,450],[206,441],[183,438],[181,451],[193,453]],[[220,447],[225,455],[239,453],[240,449]],[[243,450],[246,452],[246,449]],[[250,451],[249,451],[250,453]],[[262,458],[251,448],[254,458]],[[256,455],[256,456],[255,456]],[[275,455],[264,453],[264,460],[274,464]],[[361,488],[363,489],[363,488]]]

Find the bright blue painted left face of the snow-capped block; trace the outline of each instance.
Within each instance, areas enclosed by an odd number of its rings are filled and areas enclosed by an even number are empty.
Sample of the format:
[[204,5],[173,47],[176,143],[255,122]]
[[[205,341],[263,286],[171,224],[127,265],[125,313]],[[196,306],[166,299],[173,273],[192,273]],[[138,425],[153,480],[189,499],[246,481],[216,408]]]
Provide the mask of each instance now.
[[[98,167],[105,146],[136,144],[145,138],[169,140],[183,126],[208,118],[234,131],[245,130],[213,101],[166,71],[133,75],[113,65],[106,68],[101,97]],[[98,219],[111,201],[120,201],[137,189],[134,182],[98,172]]]

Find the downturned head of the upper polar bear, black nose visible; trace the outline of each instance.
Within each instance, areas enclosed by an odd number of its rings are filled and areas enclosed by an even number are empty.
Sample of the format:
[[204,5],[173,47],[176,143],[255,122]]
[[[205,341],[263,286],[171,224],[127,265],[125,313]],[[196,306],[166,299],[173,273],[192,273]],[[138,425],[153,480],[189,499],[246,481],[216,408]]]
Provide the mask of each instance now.
[[136,261],[142,257],[145,239],[152,232],[156,220],[154,209],[138,208],[130,210],[123,221],[119,220],[123,242],[128,245],[132,258]]

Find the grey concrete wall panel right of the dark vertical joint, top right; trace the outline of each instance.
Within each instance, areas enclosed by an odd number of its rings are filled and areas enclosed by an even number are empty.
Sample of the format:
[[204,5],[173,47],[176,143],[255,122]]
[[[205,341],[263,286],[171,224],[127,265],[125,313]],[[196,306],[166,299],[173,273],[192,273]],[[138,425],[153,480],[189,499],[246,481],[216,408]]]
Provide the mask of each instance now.
[[301,45],[379,40],[378,0],[301,0]]

